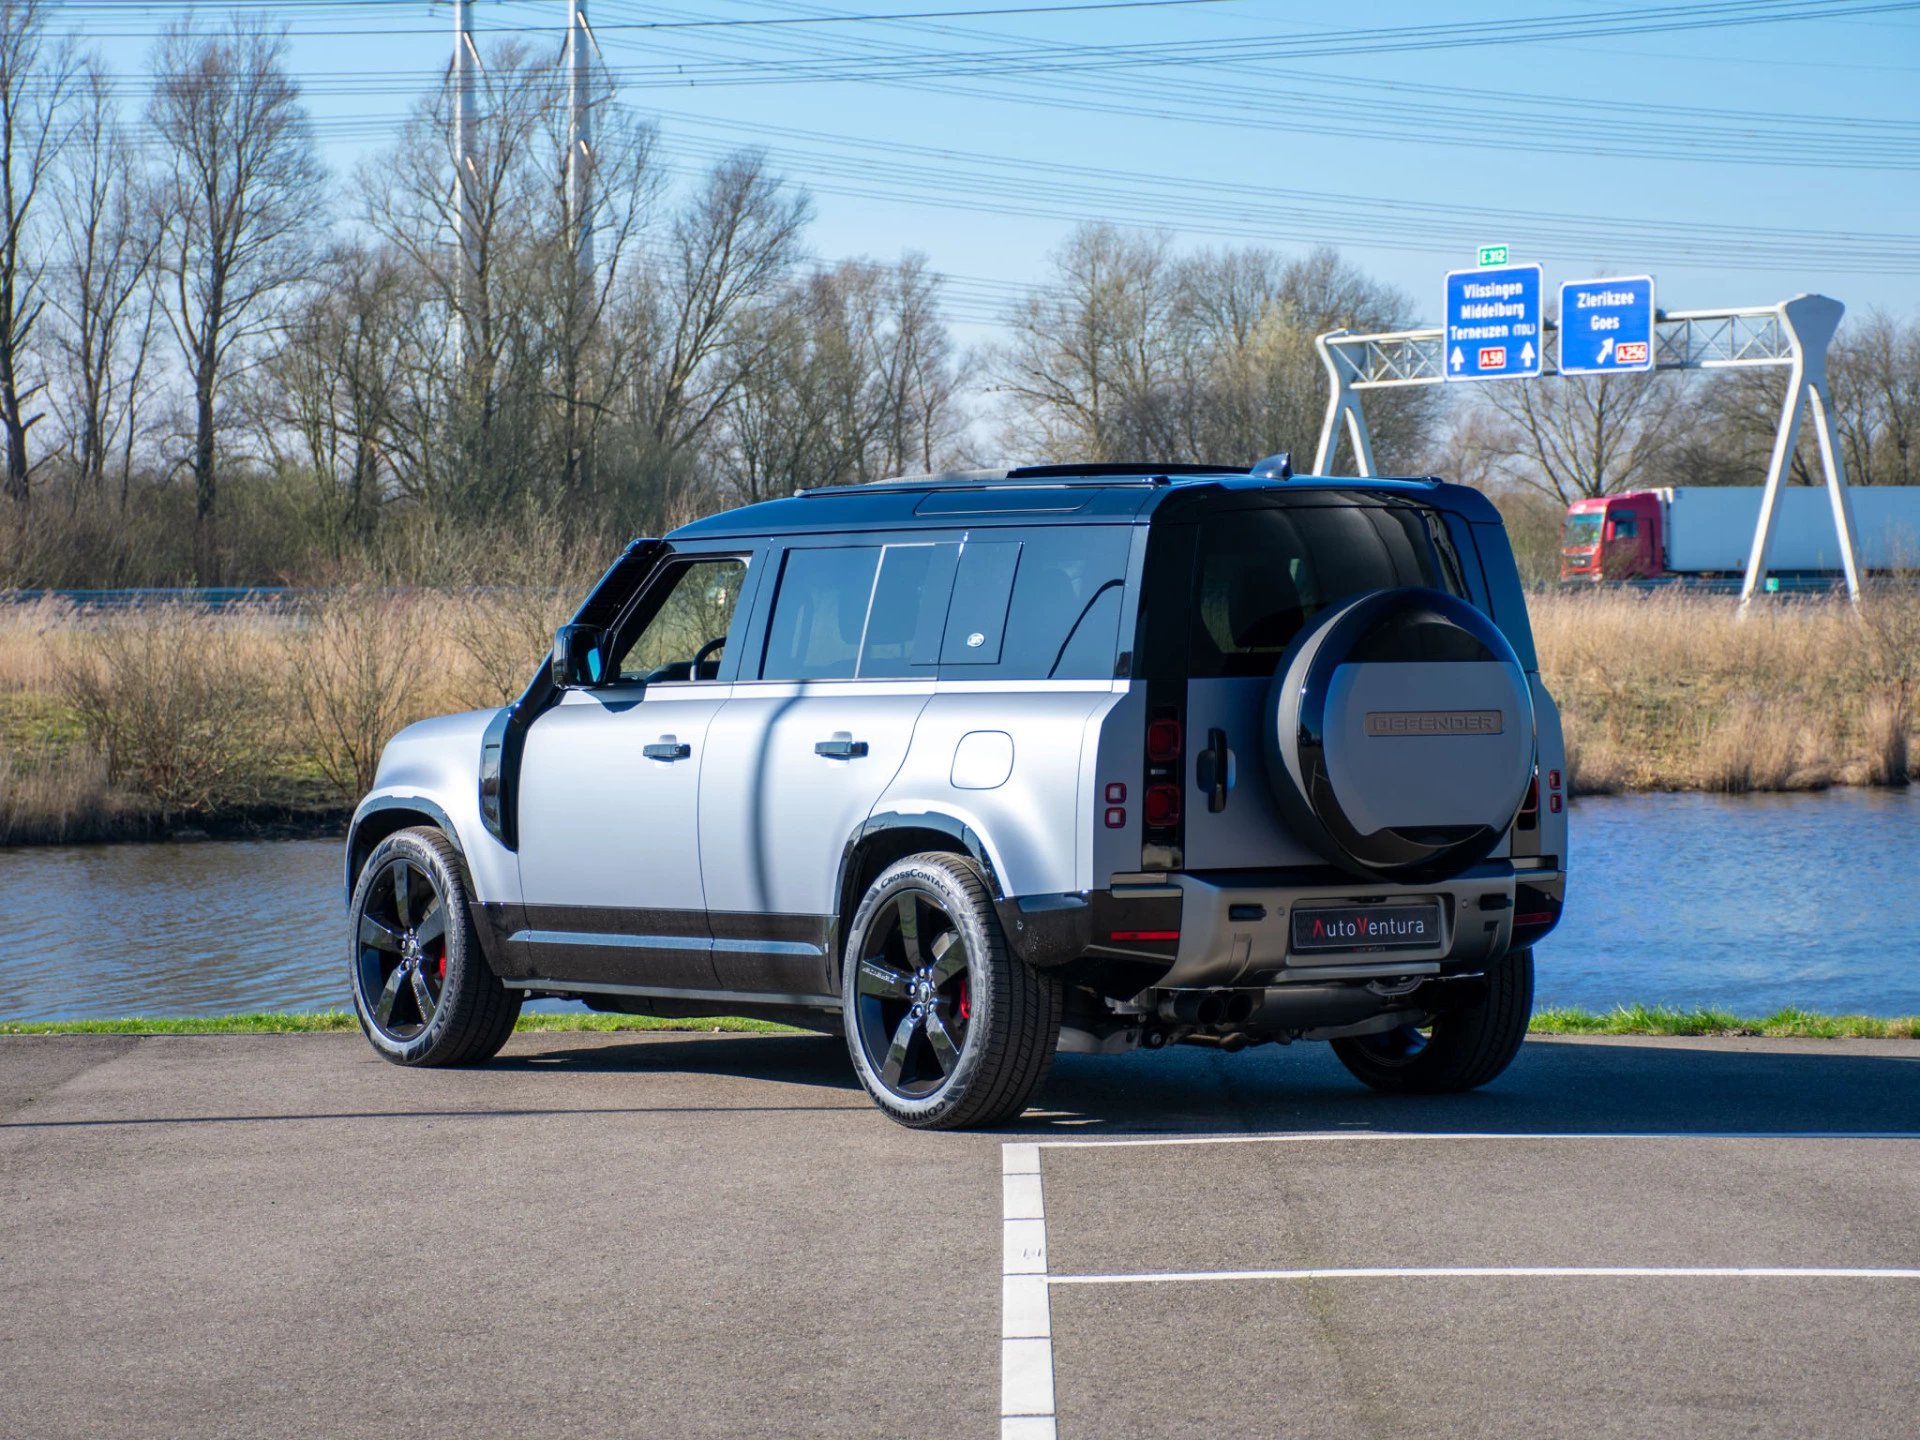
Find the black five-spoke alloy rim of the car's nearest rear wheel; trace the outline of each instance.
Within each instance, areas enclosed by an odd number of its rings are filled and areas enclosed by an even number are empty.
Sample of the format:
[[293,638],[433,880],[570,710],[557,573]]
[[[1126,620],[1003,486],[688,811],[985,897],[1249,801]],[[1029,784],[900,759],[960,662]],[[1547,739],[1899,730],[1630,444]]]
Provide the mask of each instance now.
[[966,941],[939,899],[908,889],[868,929],[854,1023],[881,1083],[922,1098],[960,1068],[973,1020]]

